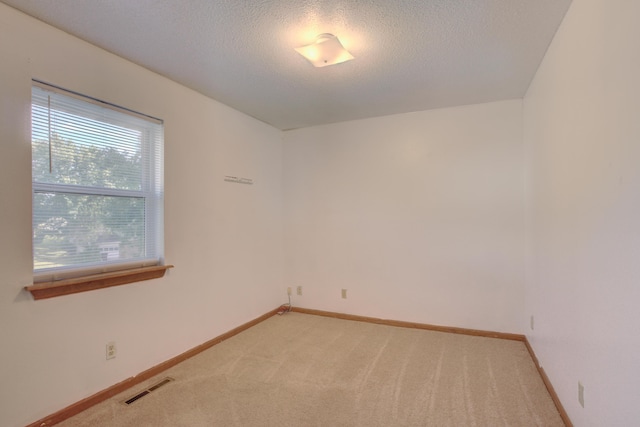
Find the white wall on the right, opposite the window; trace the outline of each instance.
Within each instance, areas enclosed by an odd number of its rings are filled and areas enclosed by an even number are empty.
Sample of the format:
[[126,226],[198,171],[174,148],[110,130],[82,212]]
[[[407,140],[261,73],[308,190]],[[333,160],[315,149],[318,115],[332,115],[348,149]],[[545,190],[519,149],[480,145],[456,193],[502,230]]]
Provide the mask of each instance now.
[[574,1],[524,100],[529,337],[579,426],[640,420],[639,16]]

